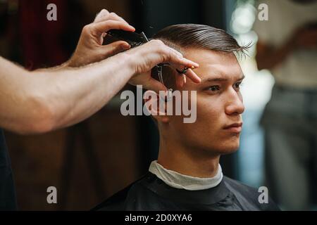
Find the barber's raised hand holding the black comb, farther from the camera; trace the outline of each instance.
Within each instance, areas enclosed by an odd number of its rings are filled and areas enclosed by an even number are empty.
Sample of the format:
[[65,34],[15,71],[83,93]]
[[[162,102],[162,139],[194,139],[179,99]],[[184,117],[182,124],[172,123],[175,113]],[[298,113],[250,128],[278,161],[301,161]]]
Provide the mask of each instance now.
[[125,41],[102,45],[106,32],[111,29],[135,32],[135,28],[125,22],[123,18],[120,18],[116,13],[109,13],[106,9],[103,9],[95,18],[94,23],[86,25],[82,29],[75,53],[68,60],[67,65],[79,67],[95,63],[120,51],[130,49],[130,45]]

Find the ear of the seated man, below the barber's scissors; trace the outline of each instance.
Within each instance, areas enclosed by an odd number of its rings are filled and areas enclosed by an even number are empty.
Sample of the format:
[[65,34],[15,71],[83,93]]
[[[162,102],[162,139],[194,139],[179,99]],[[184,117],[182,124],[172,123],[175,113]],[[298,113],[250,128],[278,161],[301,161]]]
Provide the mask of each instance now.
[[157,122],[168,123],[169,117],[166,110],[166,101],[160,98],[155,91],[146,91],[144,93],[144,108]]

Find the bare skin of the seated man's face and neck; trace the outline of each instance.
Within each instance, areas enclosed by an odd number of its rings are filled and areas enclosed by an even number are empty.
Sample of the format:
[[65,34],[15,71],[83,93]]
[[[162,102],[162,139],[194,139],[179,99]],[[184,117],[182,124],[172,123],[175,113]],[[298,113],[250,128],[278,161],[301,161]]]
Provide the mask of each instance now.
[[[154,116],[160,133],[158,162],[180,174],[212,177],[220,155],[240,146],[244,112],[240,84],[244,75],[233,53],[187,49],[185,56],[199,63],[195,72],[201,83],[189,80],[178,89],[197,91],[197,120],[185,124],[183,116]],[[225,129],[230,124],[237,126]]]

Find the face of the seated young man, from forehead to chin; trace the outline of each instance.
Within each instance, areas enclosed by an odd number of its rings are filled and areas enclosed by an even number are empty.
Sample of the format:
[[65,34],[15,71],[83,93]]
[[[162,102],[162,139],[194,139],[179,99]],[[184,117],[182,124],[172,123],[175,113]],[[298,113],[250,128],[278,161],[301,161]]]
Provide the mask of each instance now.
[[[173,139],[189,149],[216,155],[232,153],[240,145],[244,112],[240,93],[244,75],[240,65],[232,53],[191,49],[185,57],[199,63],[194,71],[201,84],[187,79],[180,89],[197,91],[197,120],[185,124],[181,116],[171,116],[169,127]],[[228,128],[230,125],[235,127]]]

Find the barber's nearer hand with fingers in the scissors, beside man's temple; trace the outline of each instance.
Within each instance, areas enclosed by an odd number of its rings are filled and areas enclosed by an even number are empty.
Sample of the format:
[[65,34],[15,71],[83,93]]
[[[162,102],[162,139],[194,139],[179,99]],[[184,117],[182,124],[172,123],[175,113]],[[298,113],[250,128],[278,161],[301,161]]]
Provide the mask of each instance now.
[[[135,75],[130,79],[132,85],[142,84],[145,89],[156,91],[166,91],[166,86],[151,77],[151,69],[159,63],[170,63],[175,69],[183,70],[186,68],[198,68],[197,63],[182,57],[182,54],[163,44],[160,40],[152,40],[135,49],[126,52],[132,58],[132,66]],[[193,82],[199,83],[200,78],[192,69],[188,69],[185,75],[177,77],[176,82],[180,86],[185,84],[186,78],[192,79]]]

